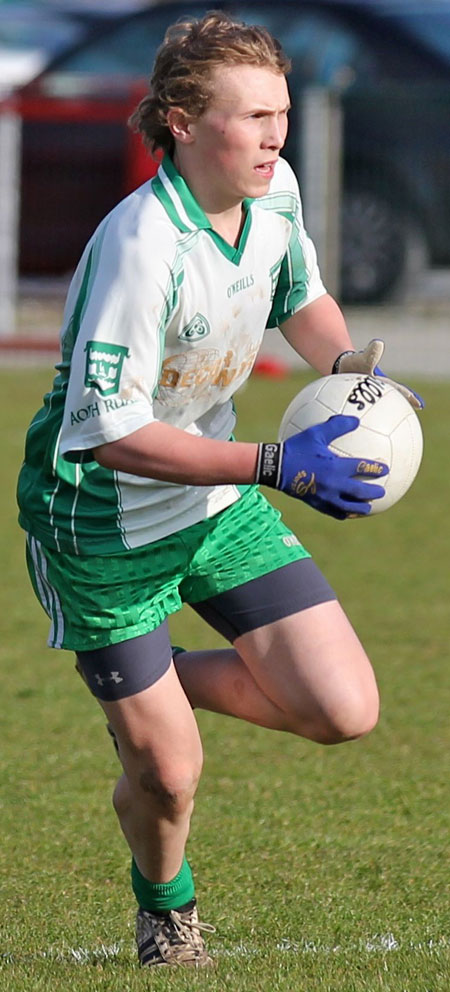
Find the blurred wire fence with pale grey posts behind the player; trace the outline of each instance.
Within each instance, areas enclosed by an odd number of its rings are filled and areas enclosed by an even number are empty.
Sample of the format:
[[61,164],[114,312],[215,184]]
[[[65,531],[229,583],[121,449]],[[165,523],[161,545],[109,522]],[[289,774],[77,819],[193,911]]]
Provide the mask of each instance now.
[[[0,333],[17,276],[70,272],[97,223],[156,169],[126,126],[140,98],[31,100],[0,113]],[[450,89],[303,90],[286,157],[327,287],[344,302],[450,267]]]

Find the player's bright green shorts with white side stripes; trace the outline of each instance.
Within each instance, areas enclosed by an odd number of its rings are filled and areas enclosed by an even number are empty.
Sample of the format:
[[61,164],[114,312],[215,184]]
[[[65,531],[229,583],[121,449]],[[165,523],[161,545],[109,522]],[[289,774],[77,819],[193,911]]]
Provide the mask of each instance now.
[[78,557],[27,538],[33,588],[51,620],[48,644],[73,651],[146,634],[183,603],[309,557],[253,487],[216,516],[119,555]]

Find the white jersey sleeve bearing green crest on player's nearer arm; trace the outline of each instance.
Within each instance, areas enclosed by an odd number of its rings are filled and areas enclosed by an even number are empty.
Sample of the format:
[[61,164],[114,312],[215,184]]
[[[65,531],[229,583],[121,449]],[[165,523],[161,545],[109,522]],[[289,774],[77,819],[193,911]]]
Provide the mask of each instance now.
[[[66,307],[70,352],[59,452],[86,461],[97,445],[151,423],[164,332],[174,306],[170,260],[151,257],[133,217],[114,211],[74,277]],[[68,358],[66,354],[66,359]]]

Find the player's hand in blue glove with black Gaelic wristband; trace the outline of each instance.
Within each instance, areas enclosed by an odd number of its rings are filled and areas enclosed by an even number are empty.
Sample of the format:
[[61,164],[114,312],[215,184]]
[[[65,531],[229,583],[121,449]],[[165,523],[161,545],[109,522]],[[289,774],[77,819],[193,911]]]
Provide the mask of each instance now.
[[387,475],[387,465],[335,455],[328,447],[358,424],[358,417],[337,414],[281,444],[261,444],[256,481],[281,489],[337,520],[367,515],[369,500],[380,499],[385,491],[364,480]]

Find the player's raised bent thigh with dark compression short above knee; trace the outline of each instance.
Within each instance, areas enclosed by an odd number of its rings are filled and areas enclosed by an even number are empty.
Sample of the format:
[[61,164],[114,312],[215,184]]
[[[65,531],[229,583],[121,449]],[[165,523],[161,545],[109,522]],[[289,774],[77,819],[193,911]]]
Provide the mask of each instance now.
[[311,558],[192,605],[231,641],[291,729],[329,740],[359,736],[376,723],[371,664]]

